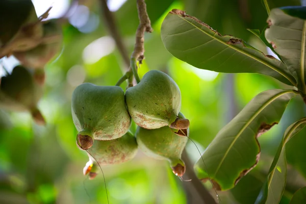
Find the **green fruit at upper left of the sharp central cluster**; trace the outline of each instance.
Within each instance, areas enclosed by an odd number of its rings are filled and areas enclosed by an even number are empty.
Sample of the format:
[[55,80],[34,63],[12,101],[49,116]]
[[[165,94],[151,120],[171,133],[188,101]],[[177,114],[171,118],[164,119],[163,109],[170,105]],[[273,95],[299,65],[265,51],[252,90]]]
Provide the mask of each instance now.
[[72,93],[71,112],[83,149],[90,148],[94,140],[119,138],[131,126],[124,92],[118,86],[81,84]]

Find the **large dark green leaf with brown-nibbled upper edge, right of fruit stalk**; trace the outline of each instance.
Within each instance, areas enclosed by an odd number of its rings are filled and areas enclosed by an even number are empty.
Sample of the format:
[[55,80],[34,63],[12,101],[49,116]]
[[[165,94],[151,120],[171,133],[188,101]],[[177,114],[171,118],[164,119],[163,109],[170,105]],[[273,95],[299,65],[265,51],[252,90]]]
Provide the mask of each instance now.
[[173,9],[161,29],[166,49],[176,58],[197,68],[227,73],[261,73],[296,85],[281,61],[233,36],[217,31],[185,12]]

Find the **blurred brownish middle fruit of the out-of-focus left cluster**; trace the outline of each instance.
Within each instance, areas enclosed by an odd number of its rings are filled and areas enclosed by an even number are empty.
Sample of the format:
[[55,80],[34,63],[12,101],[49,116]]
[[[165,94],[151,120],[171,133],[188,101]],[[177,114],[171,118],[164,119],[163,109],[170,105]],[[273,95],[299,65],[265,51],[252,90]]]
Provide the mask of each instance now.
[[48,39],[37,47],[24,51],[14,52],[13,55],[26,67],[43,68],[62,48],[62,29],[56,20],[43,24],[43,37]]

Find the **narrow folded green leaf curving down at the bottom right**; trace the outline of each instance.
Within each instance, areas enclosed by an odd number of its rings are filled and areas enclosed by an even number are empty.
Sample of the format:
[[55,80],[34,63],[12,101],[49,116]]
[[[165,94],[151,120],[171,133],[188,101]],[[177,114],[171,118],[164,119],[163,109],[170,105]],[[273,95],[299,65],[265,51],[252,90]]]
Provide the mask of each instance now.
[[283,140],[278,147],[274,160],[256,204],[278,204],[281,201],[287,180],[286,143],[306,125],[306,118],[302,118],[291,124],[285,131]]

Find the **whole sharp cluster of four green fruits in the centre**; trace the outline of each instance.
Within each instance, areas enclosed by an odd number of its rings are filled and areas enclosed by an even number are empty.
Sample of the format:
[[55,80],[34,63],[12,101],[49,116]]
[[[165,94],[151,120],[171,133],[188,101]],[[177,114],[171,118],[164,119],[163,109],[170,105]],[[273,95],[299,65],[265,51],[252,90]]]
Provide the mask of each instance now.
[[[173,173],[182,176],[189,120],[180,110],[179,87],[158,70],[147,72],[125,94],[119,86],[80,85],[72,93],[71,112],[77,145],[89,155],[84,174],[93,179],[97,163],[129,161],[139,147],[149,157],[169,161]],[[135,137],[129,132],[132,119],[138,125]]]

